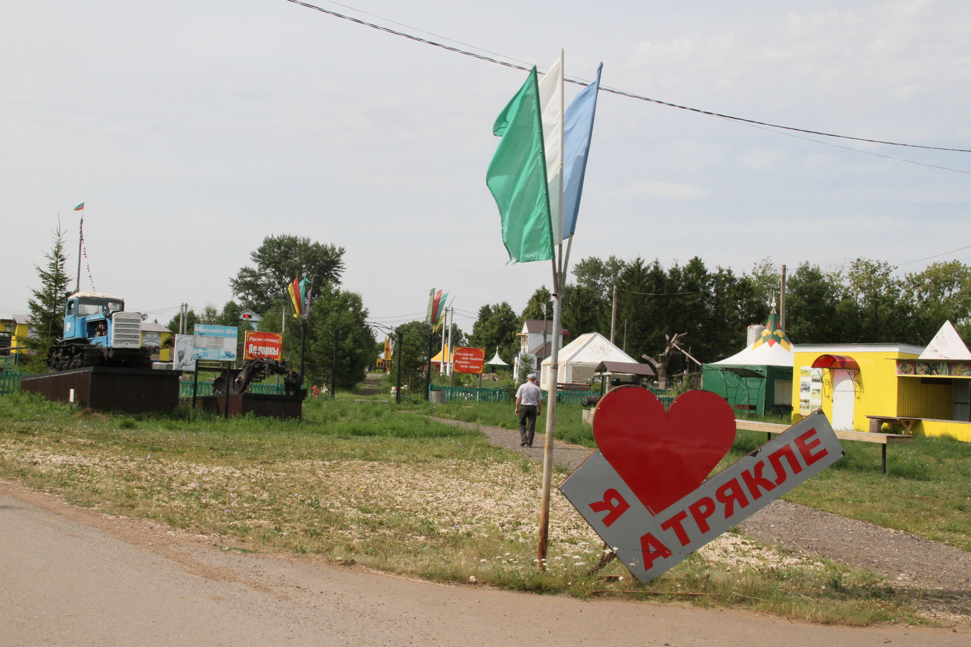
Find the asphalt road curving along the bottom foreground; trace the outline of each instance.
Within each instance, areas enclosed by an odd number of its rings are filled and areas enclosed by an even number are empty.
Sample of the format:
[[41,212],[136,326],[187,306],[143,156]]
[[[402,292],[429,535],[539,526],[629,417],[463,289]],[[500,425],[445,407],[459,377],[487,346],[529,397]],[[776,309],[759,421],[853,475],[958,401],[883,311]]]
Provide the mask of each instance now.
[[0,645],[971,644],[967,628],[846,629],[730,611],[446,586],[220,550],[0,481]]

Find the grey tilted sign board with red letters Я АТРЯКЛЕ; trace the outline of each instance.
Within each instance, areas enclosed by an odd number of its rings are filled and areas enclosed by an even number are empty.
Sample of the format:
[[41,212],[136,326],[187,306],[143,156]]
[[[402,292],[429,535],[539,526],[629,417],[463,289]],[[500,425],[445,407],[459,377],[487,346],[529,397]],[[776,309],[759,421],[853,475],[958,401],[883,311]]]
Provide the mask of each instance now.
[[559,486],[586,522],[647,582],[843,456],[821,412],[721,470],[656,515],[599,451]]

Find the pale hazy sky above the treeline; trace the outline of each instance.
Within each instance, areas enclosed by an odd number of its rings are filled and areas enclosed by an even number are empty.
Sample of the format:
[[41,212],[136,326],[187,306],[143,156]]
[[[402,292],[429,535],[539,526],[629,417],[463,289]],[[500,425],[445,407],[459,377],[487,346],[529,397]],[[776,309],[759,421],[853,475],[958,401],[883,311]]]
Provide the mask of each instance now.
[[[541,72],[563,48],[568,77],[602,61],[604,85],[691,108],[971,148],[966,0],[315,4]],[[551,284],[507,265],[485,186],[525,72],[286,0],[8,3],[0,57],[0,316],[26,312],[58,218],[75,275],[82,202],[94,286],[163,323],[221,307],[268,235],[345,247],[343,287],[389,323],[432,287],[474,313]],[[945,252],[971,245],[969,173],[968,152],[601,92],[571,261],[968,263]]]

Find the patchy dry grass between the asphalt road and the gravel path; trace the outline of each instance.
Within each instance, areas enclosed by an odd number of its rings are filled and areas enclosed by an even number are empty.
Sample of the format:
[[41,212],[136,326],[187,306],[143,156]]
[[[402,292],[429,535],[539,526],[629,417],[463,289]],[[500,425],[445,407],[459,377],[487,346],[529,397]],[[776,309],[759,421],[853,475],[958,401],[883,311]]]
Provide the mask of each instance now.
[[[224,421],[186,409],[160,417],[110,415],[25,394],[3,396],[0,476],[106,513],[206,534],[231,548],[441,581],[475,578],[581,597],[689,599],[822,623],[927,620],[912,604],[917,593],[737,534],[723,535],[650,586],[633,581],[616,562],[590,575],[602,544],[558,494],[549,566],[537,572],[538,465],[490,446],[479,432],[381,400],[342,395],[312,399],[304,410],[303,421]],[[561,410],[579,421],[578,407]],[[862,467],[868,469],[865,461]],[[882,481],[887,492],[898,491],[889,490],[896,480]]]

